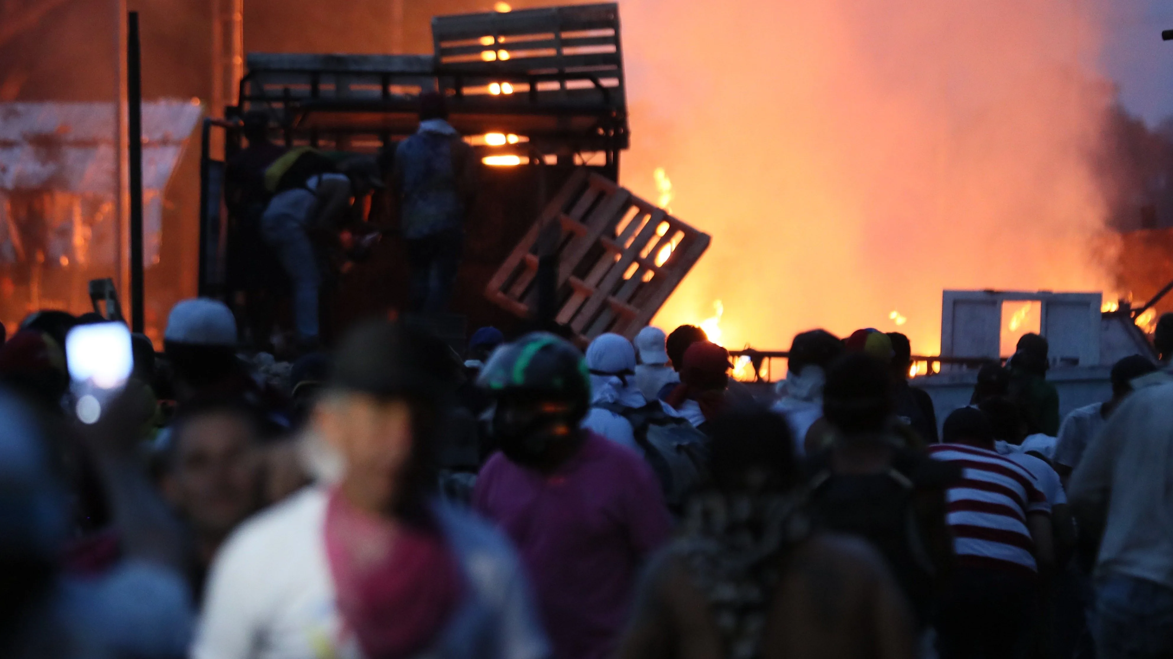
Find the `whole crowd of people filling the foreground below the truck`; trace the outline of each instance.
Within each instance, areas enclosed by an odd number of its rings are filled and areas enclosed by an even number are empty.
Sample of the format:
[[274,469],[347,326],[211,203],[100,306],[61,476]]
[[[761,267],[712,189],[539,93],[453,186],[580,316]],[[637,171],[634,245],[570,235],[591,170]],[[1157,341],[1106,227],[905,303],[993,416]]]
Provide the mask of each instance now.
[[1143,356],[1059,419],[1026,335],[938,427],[900,334],[799,334],[767,390],[691,325],[374,321],[283,364],[196,298],[86,424],[66,337],[103,321],[0,348],[4,657],[1173,655]]

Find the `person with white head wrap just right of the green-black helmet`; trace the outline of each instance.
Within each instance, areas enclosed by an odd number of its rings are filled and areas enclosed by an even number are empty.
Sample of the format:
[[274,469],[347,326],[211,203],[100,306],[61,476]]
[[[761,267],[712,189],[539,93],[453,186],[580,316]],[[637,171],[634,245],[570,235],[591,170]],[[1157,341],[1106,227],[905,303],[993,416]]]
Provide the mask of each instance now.
[[586,368],[590,370],[591,410],[582,427],[643,454],[631,423],[605,409],[638,409],[647,404],[636,386],[636,349],[617,334],[599,335],[586,346]]

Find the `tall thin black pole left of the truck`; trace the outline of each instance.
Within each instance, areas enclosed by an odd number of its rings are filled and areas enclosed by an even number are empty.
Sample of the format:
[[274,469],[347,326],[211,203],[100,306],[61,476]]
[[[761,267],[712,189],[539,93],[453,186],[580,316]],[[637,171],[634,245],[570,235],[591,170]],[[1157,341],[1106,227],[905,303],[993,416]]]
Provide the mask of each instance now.
[[127,129],[130,145],[130,318],[143,331],[143,88],[138,47],[138,12],[130,12],[127,32]]

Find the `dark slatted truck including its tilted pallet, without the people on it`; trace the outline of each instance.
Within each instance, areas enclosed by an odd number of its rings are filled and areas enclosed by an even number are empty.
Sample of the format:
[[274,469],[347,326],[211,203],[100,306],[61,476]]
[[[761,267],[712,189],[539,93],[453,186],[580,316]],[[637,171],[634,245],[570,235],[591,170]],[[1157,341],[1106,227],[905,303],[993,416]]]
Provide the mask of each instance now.
[[[439,91],[483,167],[453,301],[463,315],[432,320],[454,342],[468,325],[508,330],[538,314],[581,342],[633,337],[710,236],[616,184],[629,145],[618,6],[438,16],[432,34],[426,55],[248,55],[238,102],[203,130],[201,295],[244,315],[251,303],[232,267],[239,219],[221,200],[224,162],[242,147],[237,119],[260,110],[277,143],[377,155],[387,171],[416,130],[420,95]],[[213,131],[225,160],[212,157]],[[388,206],[377,193],[372,220]],[[398,242],[346,275],[327,325],[406,307]]]

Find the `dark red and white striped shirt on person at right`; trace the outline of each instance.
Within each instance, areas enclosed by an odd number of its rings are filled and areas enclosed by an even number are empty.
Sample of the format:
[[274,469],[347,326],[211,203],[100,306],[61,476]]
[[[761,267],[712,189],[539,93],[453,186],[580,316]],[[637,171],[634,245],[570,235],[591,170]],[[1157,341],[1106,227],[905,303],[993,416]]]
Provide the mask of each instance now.
[[1030,472],[995,451],[962,444],[930,446],[929,455],[963,469],[945,494],[957,563],[1037,572],[1026,514],[1050,514],[1051,504]]

